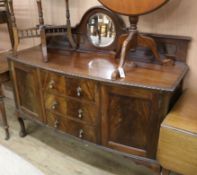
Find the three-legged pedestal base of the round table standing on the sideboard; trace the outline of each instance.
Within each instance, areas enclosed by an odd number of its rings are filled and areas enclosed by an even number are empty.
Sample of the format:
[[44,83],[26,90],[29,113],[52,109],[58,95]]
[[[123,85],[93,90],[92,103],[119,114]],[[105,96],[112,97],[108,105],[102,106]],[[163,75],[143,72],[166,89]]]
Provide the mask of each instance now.
[[[143,36],[138,33],[137,23],[138,16],[129,16],[130,29],[129,34],[124,34],[120,36],[117,46],[116,58],[120,58],[118,68],[113,72],[112,79],[116,80],[118,78],[125,78],[124,64],[130,50],[136,50],[137,47],[147,47],[149,48],[157,62],[161,65],[173,65],[174,62],[172,59],[161,59],[157,51],[157,44],[154,39],[150,37]],[[132,66],[136,66],[134,62],[131,62]]]

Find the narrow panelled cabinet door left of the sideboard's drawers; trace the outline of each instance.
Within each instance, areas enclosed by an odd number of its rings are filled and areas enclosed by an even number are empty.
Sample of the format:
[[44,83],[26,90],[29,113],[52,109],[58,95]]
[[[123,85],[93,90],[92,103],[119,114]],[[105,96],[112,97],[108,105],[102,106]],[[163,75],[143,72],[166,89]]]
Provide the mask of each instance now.
[[24,113],[28,117],[43,122],[41,88],[37,69],[12,61],[10,65],[16,105],[22,113],[20,115]]

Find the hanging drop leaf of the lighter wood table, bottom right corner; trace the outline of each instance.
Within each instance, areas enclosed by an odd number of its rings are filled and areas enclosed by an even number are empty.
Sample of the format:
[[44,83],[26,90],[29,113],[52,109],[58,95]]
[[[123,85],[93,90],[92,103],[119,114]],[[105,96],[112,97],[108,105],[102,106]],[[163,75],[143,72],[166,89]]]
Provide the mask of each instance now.
[[196,175],[197,135],[162,127],[157,153],[160,164],[171,171]]

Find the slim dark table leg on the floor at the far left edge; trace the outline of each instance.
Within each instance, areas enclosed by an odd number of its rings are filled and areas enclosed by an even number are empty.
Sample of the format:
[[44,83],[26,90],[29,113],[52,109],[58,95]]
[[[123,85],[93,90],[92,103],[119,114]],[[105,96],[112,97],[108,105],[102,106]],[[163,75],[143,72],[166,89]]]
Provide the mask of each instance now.
[[8,122],[7,122],[7,117],[6,117],[6,113],[5,113],[5,105],[4,105],[4,101],[3,101],[3,92],[2,92],[2,87],[0,85],[0,116],[2,118],[2,122],[3,122],[3,127],[5,129],[5,140],[8,140],[10,138],[10,134],[9,134],[9,126],[8,126]]

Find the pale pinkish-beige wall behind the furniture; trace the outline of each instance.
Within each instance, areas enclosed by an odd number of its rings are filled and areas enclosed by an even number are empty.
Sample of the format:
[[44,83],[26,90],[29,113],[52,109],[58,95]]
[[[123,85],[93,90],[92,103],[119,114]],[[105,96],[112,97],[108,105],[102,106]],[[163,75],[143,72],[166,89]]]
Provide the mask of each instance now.
[[[36,0],[13,0],[19,27],[30,27],[37,23]],[[99,5],[97,0],[70,0],[72,25],[75,25],[84,12]],[[65,24],[64,0],[43,0],[44,17],[47,24]],[[188,64],[190,73],[186,79],[186,87],[197,88],[197,1],[171,0],[162,9],[143,16],[139,30],[143,32],[162,33],[172,35],[186,35],[192,37]],[[125,18],[125,17],[124,17]],[[127,18],[125,18],[127,21]],[[38,44],[36,39],[21,42],[21,48]],[[9,38],[5,25],[0,26],[0,50],[9,48]]]

